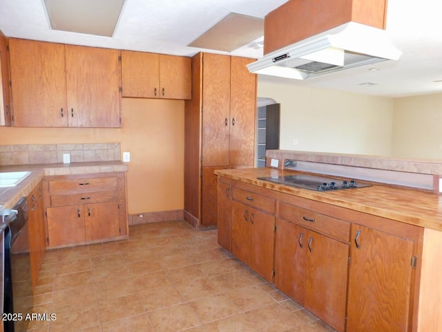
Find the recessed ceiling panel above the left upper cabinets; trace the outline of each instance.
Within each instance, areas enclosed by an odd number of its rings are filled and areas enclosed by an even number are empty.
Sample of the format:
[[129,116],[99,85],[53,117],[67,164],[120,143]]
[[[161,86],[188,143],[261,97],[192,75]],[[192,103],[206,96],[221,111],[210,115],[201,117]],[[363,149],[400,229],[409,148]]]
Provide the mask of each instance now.
[[126,0],[44,0],[53,30],[112,37]]

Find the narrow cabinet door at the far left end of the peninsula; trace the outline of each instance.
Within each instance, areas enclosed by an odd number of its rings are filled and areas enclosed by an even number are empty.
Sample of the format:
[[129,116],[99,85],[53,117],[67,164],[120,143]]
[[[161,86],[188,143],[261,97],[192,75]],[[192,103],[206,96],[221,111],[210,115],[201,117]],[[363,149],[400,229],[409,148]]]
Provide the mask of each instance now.
[[231,232],[232,187],[218,181],[218,244],[232,251]]

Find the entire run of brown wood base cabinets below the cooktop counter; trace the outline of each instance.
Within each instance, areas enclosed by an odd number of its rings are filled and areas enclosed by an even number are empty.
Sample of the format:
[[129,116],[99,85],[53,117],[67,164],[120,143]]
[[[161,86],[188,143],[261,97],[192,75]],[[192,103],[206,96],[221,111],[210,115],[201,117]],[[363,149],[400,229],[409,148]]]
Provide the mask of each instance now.
[[270,282],[274,266],[275,286],[336,331],[418,331],[423,228],[226,177],[218,202],[220,245],[231,234],[235,257]]

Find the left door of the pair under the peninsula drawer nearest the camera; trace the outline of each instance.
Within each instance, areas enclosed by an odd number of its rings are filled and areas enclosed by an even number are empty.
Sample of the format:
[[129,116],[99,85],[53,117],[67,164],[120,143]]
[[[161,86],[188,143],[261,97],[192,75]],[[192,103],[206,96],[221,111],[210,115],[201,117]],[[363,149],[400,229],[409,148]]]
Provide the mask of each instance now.
[[296,223],[276,219],[275,286],[303,305],[307,230]]

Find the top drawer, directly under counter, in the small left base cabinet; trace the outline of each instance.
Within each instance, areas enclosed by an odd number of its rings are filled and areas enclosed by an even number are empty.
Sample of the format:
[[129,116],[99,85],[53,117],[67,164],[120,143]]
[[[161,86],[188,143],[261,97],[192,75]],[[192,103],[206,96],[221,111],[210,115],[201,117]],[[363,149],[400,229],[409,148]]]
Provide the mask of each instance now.
[[97,190],[117,190],[117,177],[49,181],[49,192],[51,195],[71,192],[93,192]]

